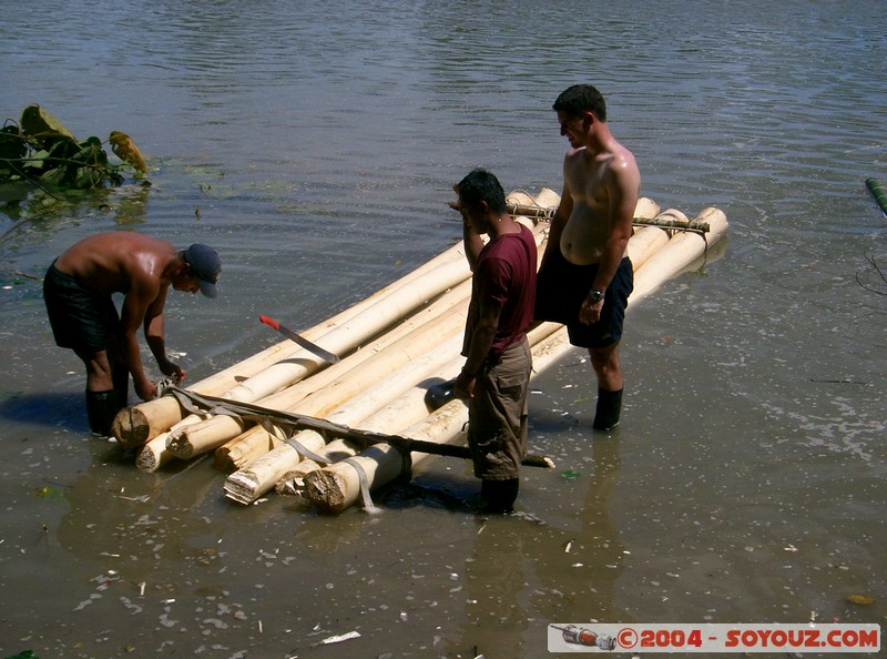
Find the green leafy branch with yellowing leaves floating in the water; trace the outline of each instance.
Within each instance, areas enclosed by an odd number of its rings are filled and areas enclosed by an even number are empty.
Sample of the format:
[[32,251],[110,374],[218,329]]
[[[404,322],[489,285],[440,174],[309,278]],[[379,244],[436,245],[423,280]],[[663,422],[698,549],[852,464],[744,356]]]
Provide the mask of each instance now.
[[28,105],[19,123],[7,120],[0,129],[0,184],[62,192],[120,185],[124,174],[146,182],[147,163],[135,142],[120,131],[112,131],[108,142],[119,164],[109,161],[99,138],[78,141],[50,112]]

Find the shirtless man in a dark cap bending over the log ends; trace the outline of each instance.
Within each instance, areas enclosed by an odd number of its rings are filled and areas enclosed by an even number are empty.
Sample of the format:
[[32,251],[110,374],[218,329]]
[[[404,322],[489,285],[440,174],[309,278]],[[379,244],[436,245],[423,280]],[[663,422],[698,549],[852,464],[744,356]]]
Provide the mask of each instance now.
[[[110,435],[111,422],[126,405],[132,373],[143,401],[157,395],[145,376],[135,333],[145,341],[164,375],[176,382],[185,369],[166,358],[163,306],[176,291],[216,296],[218,254],[202,244],[179,251],[166,241],[137,233],[100,233],[59,256],[43,280],[43,300],[55,343],[86,366],[86,414],[94,433]],[[111,298],[123,293],[121,314]]]

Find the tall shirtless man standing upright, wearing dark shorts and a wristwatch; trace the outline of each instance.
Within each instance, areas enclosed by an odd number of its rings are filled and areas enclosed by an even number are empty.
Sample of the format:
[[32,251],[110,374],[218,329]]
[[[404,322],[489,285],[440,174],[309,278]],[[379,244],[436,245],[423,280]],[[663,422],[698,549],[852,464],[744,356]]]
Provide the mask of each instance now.
[[536,318],[565,324],[570,343],[589,349],[598,378],[593,427],[609,430],[622,408],[619,342],[634,282],[626,246],[641,174],[634,155],[610,133],[594,87],[569,88],[554,111],[570,151],[539,271]]

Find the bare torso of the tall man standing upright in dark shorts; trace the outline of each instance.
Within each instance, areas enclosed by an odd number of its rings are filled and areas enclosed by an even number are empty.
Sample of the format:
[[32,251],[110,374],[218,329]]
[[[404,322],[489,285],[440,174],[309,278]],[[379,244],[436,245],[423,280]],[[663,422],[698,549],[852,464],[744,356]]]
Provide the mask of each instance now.
[[631,231],[640,173],[628,149],[615,141],[608,146],[593,155],[587,148],[572,149],[564,158],[564,195],[571,207],[560,247],[577,265],[600,262],[613,233]]

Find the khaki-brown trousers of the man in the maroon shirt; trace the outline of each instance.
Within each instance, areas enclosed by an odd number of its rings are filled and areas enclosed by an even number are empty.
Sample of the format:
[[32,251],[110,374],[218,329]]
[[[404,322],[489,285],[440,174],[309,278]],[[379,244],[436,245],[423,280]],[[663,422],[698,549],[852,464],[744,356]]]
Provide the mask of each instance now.
[[468,403],[468,446],[475,476],[508,480],[520,476],[527,456],[527,392],[532,354],[530,344],[510,345],[495,364],[485,364]]

